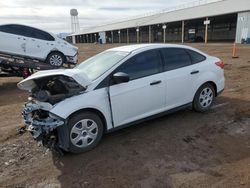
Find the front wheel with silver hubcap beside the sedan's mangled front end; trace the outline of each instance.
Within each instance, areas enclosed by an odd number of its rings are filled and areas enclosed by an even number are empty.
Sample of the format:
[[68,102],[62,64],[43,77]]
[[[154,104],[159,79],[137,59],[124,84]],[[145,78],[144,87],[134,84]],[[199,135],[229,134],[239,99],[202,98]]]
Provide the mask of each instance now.
[[103,135],[103,123],[95,113],[82,112],[69,119],[68,131],[69,151],[83,153],[93,149],[100,142]]

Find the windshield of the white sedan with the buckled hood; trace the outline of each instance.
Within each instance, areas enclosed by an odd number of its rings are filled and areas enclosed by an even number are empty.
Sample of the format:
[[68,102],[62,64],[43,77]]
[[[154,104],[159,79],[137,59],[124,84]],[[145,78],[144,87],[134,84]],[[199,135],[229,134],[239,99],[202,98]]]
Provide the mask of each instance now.
[[105,51],[83,61],[76,68],[84,72],[84,74],[93,81],[125,58],[128,54],[128,52],[122,51]]

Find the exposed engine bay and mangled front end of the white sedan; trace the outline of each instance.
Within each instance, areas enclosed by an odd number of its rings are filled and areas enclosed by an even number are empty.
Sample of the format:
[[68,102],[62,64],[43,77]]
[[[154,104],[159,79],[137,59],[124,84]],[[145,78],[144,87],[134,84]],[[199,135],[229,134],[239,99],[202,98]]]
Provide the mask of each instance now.
[[67,146],[63,143],[65,120],[49,111],[56,103],[82,94],[86,88],[79,85],[73,78],[61,75],[35,79],[34,82],[36,87],[31,90],[29,101],[22,112],[26,129],[44,146],[66,150]]

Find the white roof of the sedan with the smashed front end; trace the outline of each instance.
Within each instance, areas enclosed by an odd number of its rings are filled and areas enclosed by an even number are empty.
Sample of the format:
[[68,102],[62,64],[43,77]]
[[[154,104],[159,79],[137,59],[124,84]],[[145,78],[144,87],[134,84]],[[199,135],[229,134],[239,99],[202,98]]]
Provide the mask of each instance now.
[[156,48],[167,48],[167,47],[172,47],[172,48],[189,48],[192,49],[189,46],[185,45],[178,45],[178,44],[134,44],[134,45],[125,45],[125,46],[120,46],[116,48],[111,48],[108,49],[107,51],[124,51],[124,52],[133,52],[141,49],[156,49]]

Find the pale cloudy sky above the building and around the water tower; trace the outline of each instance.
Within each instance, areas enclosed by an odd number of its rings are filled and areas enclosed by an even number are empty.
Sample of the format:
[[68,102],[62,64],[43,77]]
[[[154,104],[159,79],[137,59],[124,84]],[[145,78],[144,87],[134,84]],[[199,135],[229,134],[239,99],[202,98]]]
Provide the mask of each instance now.
[[70,9],[80,27],[102,25],[194,0],[6,0],[0,1],[0,24],[19,23],[50,32],[70,32]]

